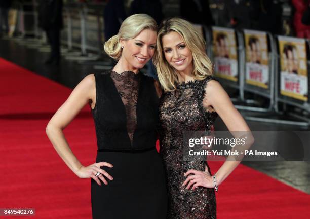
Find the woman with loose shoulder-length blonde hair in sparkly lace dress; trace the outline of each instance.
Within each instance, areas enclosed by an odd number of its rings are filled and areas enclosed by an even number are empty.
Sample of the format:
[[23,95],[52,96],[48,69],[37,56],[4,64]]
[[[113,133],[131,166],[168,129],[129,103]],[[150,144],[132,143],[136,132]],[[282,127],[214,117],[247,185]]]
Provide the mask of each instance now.
[[172,18],[162,23],[153,62],[164,90],[160,154],[168,179],[170,219],[216,218],[214,189],[240,163],[226,161],[212,176],[206,161],[183,161],[182,148],[188,146],[183,145],[183,131],[210,130],[217,116],[229,131],[250,131],[227,93],[212,79],[205,48],[202,36],[189,22]]

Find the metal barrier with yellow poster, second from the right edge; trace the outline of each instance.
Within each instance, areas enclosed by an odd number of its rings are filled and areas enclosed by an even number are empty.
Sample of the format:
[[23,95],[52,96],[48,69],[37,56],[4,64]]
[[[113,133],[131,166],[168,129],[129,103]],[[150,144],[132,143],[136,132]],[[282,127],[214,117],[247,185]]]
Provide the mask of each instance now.
[[245,92],[265,97],[269,100],[267,107],[237,105],[236,108],[270,112],[275,107],[275,53],[273,36],[270,33],[244,30],[239,34],[244,42],[240,48],[240,90],[241,100],[246,103],[256,103],[255,100],[245,99]]

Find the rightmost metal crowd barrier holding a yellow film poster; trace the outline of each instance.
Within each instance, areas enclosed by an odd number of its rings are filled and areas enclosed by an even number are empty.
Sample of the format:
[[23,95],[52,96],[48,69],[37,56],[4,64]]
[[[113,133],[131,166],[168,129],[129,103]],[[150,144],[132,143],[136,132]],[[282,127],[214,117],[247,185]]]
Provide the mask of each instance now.
[[[279,42],[279,38],[285,38],[287,40],[287,49],[285,49],[284,43],[280,43]],[[271,38],[270,38],[271,39]],[[304,55],[299,54],[299,57],[301,57],[301,59],[303,60],[294,60],[297,57],[297,51],[293,51],[293,47],[292,44],[294,44],[294,41],[300,42],[300,45],[295,45],[296,48],[298,47],[299,50],[304,50]],[[302,42],[304,42],[304,49],[302,49]],[[278,124],[286,124],[286,125],[298,125],[298,126],[309,126],[310,125],[310,119],[308,118],[309,112],[310,112],[310,104],[309,104],[309,69],[310,69],[310,65],[309,65],[309,49],[308,49],[308,45],[306,44],[304,39],[297,39],[297,38],[287,38],[287,37],[283,37],[283,36],[277,36],[277,40],[273,40],[271,41],[271,45],[274,52],[271,53],[273,54],[273,66],[274,66],[274,72],[275,74],[271,74],[270,76],[270,92],[274,93],[274,106],[272,107],[271,104],[271,99],[270,99],[270,105],[268,109],[274,109],[273,112],[270,112],[270,114],[266,114],[264,113],[263,115],[260,116],[245,116],[245,118],[247,120],[251,120],[251,121],[258,121],[258,122],[272,122],[272,123],[278,123]],[[293,64],[293,62],[295,62],[296,66],[294,67],[294,65],[290,66],[289,68],[291,68],[290,70],[295,71],[295,72],[288,72],[288,69],[284,69],[284,63],[283,63],[283,59],[284,55],[286,56],[286,54],[283,54],[283,52],[291,50],[291,54],[289,55],[290,57],[290,63]],[[297,49],[296,49],[297,50]],[[278,52],[277,52],[278,51]],[[282,57],[282,58],[281,58]],[[297,66],[302,66],[302,61],[304,62],[304,69],[303,69],[303,73],[300,72],[300,68]],[[286,64],[288,64],[289,62],[287,62]],[[294,69],[295,68],[295,69]],[[297,72],[298,71],[298,72]],[[294,74],[293,74],[294,73]],[[303,79],[303,90],[305,90],[305,92],[300,92],[301,94],[294,94],[294,92],[283,92],[283,86],[286,86],[286,84],[284,84],[284,77],[285,76],[289,76],[289,77],[293,77],[295,78],[294,80],[297,81],[297,83],[300,82],[300,80],[296,80],[296,77],[298,77],[298,75],[303,74],[305,75],[305,79]],[[298,74],[298,75],[297,75]],[[274,77],[273,77],[274,75]],[[296,75],[296,76],[295,76]],[[291,90],[294,90],[296,87],[299,88],[299,85],[291,85],[290,83],[293,82],[288,82],[288,88]],[[282,85],[281,85],[282,84]],[[251,92],[253,92],[253,90],[249,90]],[[282,94],[281,94],[282,93]],[[271,94],[271,93],[270,93]],[[270,96],[271,97],[271,96]],[[284,105],[284,112],[280,112],[278,105],[279,103],[282,103]],[[295,106],[295,109],[299,109],[299,114],[302,113],[302,110],[307,112],[306,115],[298,115],[295,113],[291,113],[288,112],[287,115],[291,116],[293,118],[293,120],[288,120],[287,118],[285,119],[274,119],[274,118],[267,118],[268,116],[281,116],[281,115],[285,115],[285,106],[286,104],[291,105],[291,106]],[[270,108],[272,107],[272,108]],[[263,112],[263,111],[262,111]],[[273,113],[273,114],[272,114]],[[298,120],[296,120],[298,119]]]

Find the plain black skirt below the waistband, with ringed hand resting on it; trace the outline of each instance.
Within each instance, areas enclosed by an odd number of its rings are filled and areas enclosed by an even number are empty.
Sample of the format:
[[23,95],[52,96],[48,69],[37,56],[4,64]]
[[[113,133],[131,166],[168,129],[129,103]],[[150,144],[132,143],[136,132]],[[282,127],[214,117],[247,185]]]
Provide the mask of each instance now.
[[[167,214],[167,188],[162,159],[156,149],[145,152],[99,152],[96,162],[113,180],[99,186],[91,179],[94,219],[164,219]],[[101,180],[100,180],[101,181]]]

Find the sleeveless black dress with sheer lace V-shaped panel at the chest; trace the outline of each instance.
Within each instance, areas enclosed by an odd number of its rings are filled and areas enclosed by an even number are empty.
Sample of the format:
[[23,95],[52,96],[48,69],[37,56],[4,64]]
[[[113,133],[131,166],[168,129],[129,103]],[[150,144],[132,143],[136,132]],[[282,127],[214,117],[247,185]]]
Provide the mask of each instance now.
[[166,218],[167,188],[156,151],[159,98],[152,78],[125,71],[95,74],[92,109],[98,152],[96,162],[113,180],[99,186],[91,179],[95,219]]

